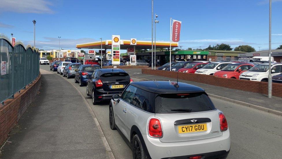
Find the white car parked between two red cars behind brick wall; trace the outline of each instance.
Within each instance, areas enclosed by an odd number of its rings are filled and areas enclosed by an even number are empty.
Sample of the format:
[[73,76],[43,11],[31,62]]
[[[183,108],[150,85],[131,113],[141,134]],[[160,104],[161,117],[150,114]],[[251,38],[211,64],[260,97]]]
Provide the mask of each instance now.
[[233,62],[212,62],[207,65],[205,65],[203,68],[198,69],[195,74],[207,74],[207,75],[213,75],[215,72],[221,70],[223,67],[235,64]]

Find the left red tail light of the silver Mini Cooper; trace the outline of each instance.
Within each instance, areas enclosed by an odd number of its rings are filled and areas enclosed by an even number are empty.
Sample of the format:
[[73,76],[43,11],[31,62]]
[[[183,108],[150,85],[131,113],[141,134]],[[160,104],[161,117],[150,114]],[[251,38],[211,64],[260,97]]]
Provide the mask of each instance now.
[[162,125],[159,119],[152,118],[149,121],[149,136],[153,138],[161,138],[163,136]]

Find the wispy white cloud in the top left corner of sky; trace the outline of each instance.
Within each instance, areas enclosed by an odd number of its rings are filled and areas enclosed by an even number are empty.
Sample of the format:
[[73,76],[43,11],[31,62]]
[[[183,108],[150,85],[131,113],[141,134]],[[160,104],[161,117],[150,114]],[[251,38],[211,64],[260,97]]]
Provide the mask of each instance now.
[[1,0],[0,12],[53,13],[52,3],[46,0]]

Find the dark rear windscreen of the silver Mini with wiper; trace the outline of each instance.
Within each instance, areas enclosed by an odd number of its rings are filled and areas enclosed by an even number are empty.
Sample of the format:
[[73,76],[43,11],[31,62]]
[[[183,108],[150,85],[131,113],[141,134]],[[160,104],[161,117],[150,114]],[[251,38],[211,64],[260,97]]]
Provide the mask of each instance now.
[[205,112],[216,109],[204,92],[158,94],[155,98],[156,114]]

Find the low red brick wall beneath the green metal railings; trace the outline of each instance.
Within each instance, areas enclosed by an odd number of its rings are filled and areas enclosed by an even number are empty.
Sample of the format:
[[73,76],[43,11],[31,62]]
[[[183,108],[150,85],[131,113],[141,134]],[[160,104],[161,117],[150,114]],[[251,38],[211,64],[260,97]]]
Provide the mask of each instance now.
[[33,84],[22,89],[20,94],[15,94],[14,99],[5,100],[5,105],[0,105],[0,143],[5,141],[13,127],[18,123],[27,107],[35,98],[41,84],[41,75]]

